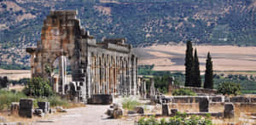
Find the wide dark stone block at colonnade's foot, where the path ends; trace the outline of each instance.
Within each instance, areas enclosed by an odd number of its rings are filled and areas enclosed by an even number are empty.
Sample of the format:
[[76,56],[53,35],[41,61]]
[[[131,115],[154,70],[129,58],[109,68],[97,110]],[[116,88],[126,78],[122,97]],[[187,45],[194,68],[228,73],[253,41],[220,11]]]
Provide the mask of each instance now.
[[95,105],[110,105],[113,103],[113,97],[111,94],[95,94],[91,96],[88,103]]

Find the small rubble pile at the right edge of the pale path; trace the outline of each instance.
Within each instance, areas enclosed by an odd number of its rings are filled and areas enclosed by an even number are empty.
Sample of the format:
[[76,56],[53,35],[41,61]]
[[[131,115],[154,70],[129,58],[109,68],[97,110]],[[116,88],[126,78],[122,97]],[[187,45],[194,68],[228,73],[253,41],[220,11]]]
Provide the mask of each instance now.
[[119,118],[120,116],[123,116],[123,110],[119,108],[118,104],[113,104],[109,107],[106,114],[109,118]]

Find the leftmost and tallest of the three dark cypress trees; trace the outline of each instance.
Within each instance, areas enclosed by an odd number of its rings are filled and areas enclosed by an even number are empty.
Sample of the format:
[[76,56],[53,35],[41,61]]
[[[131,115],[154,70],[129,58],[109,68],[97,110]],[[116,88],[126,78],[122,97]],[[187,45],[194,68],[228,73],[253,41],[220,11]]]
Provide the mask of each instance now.
[[185,57],[185,87],[191,87],[191,84],[193,82],[193,48],[191,41],[187,42],[187,50],[186,50],[186,57]]

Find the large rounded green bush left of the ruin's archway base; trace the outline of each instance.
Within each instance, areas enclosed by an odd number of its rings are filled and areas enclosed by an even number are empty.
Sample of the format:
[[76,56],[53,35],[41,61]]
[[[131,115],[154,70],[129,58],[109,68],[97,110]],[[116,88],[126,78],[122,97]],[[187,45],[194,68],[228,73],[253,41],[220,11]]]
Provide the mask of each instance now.
[[49,81],[45,81],[41,77],[32,78],[24,89],[26,95],[32,96],[50,96],[53,95],[53,90],[49,86]]

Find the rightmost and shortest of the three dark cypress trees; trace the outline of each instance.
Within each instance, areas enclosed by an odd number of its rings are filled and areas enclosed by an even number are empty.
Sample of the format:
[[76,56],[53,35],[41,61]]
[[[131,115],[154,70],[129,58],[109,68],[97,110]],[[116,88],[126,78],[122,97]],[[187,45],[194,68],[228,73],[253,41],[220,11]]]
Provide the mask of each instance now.
[[206,74],[204,88],[213,88],[213,72],[212,72],[212,57],[210,52],[207,54]]

